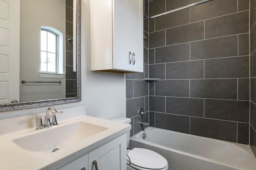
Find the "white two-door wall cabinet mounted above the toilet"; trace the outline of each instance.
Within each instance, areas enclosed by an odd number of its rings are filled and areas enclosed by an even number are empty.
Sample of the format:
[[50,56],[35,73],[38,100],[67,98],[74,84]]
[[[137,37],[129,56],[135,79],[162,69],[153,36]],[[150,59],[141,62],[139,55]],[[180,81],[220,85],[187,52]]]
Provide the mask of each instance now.
[[143,72],[143,0],[90,0],[91,70]]

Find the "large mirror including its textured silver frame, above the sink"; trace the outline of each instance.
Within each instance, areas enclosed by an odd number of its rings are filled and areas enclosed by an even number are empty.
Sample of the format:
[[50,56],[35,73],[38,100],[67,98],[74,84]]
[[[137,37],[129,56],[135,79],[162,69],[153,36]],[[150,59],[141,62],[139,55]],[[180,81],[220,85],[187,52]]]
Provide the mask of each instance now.
[[81,101],[80,18],[81,0],[0,0],[0,111]]

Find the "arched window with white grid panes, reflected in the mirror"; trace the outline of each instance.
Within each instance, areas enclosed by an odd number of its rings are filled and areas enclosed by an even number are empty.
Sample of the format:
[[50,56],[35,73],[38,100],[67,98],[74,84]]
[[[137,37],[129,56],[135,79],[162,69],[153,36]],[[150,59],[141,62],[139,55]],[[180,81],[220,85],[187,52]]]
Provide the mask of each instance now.
[[41,29],[41,72],[58,73],[58,34]]

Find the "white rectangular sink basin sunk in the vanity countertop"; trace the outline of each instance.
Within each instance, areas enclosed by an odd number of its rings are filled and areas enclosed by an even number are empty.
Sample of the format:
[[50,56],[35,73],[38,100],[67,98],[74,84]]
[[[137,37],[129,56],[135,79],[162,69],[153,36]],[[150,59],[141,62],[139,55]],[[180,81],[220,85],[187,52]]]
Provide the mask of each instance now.
[[61,149],[106,129],[108,128],[80,121],[68,125],[50,127],[38,133],[14,139],[12,142],[22,149],[31,151]]

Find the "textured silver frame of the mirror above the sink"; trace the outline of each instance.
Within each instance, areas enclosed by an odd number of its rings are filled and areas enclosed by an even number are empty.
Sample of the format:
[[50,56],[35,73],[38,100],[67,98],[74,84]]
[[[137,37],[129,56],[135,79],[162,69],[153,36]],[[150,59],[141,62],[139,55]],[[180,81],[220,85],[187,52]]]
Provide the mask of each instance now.
[[81,0],[76,0],[76,81],[77,96],[73,98],[39,100],[33,102],[20,102],[13,104],[1,104],[0,111],[24,109],[52,104],[64,104],[81,101]]

